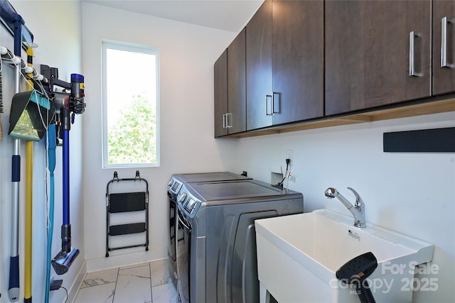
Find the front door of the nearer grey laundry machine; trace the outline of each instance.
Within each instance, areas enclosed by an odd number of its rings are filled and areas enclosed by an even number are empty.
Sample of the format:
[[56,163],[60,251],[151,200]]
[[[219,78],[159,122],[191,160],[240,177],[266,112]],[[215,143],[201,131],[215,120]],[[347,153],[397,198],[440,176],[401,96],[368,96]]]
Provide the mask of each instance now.
[[177,275],[178,296],[182,303],[190,302],[190,260],[191,260],[191,224],[183,217],[177,208],[178,230],[183,231],[183,237],[177,241]]

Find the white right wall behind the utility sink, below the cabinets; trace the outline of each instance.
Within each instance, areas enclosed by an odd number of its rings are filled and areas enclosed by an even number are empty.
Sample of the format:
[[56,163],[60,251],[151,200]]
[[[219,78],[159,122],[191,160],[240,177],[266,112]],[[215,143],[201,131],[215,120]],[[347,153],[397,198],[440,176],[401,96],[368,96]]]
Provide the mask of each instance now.
[[384,132],[449,126],[455,126],[455,112],[244,138],[230,143],[232,157],[225,163],[270,182],[270,172],[285,169],[286,150],[294,150],[296,182],[289,188],[304,194],[305,211],[327,208],[350,216],[324,191],[335,187],[355,202],[346,189],[353,187],[368,222],[434,244],[439,272],[419,279],[436,277],[438,290],[417,292],[413,302],[454,302],[455,153],[382,152]]

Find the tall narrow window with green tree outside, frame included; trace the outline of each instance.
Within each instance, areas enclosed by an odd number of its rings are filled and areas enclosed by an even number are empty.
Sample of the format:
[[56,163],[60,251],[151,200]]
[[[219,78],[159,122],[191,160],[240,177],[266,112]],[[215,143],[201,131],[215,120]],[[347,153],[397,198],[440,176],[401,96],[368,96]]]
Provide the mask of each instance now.
[[159,166],[159,51],[102,43],[103,168]]

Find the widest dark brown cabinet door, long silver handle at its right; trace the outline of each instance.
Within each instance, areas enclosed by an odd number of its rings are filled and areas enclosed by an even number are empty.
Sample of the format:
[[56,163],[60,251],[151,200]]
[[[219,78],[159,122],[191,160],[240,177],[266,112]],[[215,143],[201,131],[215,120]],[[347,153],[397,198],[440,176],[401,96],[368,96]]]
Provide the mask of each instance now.
[[326,1],[326,115],[431,94],[431,5]]

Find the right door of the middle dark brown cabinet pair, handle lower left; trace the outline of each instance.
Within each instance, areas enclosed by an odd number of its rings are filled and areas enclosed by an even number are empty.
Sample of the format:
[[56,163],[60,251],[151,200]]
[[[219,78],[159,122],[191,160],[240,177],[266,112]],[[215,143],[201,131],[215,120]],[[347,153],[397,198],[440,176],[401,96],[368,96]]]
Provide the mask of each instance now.
[[323,1],[272,1],[273,124],[323,116]]

